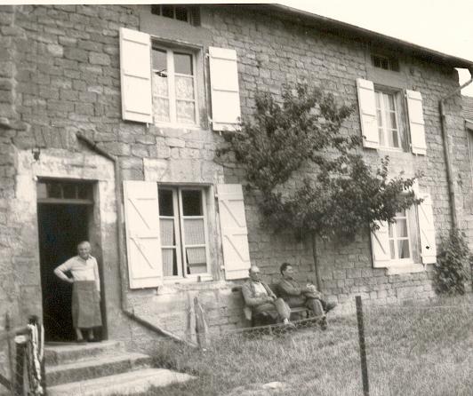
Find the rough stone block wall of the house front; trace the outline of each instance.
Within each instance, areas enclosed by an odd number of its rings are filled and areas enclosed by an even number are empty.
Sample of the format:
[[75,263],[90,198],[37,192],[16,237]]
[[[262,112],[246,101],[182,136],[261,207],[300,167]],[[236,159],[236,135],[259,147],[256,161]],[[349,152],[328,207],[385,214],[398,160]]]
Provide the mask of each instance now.
[[[116,196],[113,164],[85,147],[81,133],[108,154],[116,155],[124,180],[151,180],[210,186],[245,184],[245,175],[231,156],[216,160],[223,139],[207,123],[210,115],[207,72],[199,79],[201,125],[182,129],[122,120],[119,28],[153,34],[161,40],[237,51],[242,116],[251,115],[257,91],[281,94],[282,83],[315,83],[344,104],[357,103],[358,77],[396,88],[421,91],[427,155],[365,150],[376,163],[389,154],[393,175],[421,171],[420,186],[433,200],[437,245],[451,227],[445,154],[438,101],[458,87],[451,61],[433,61],[401,48],[400,70],[371,67],[370,40],[351,40],[293,20],[282,13],[242,12],[238,7],[202,6],[200,26],[151,15],[138,5],[18,5],[0,7],[0,331],[4,313],[13,324],[28,314],[41,316],[41,283],[36,218],[36,178],[73,178],[97,182],[100,205],[96,216],[95,249],[99,251],[108,318],[108,337],[140,344],[149,335],[121,314],[122,285],[116,245]],[[205,60],[202,60],[206,65]],[[206,70],[206,66],[204,66]],[[203,115],[203,116],[202,116]],[[453,185],[461,229],[473,247],[471,173],[467,135],[461,117],[460,93],[446,102],[446,124],[453,161]],[[354,114],[343,125],[360,133]],[[33,148],[39,148],[36,160]],[[212,199],[210,200],[212,201]],[[215,210],[216,202],[211,202]],[[252,194],[245,193],[248,242],[253,264],[267,281],[289,261],[301,281],[314,278],[309,238],[275,234],[261,227]],[[215,216],[209,216],[215,218]],[[242,325],[242,303],[225,281],[218,221],[209,224],[213,281],[165,284],[158,289],[126,289],[126,305],[169,331],[184,335],[192,328],[193,298],[199,297],[212,332]],[[368,230],[360,227],[356,241],[318,243],[324,292],[352,309],[354,295],[368,304],[386,305],[434,297],[432,272],[389,274],[373,268]],[[189,319],[190,318],[190,319]],[[110,323],[114,323],[110,326]],[[144,333],[143,333],[144,332]],[[146,336],[146,337],[145,337]],[[192,335],[188,335],[192,337]],[[0,355],[0,360],[2,356]]]

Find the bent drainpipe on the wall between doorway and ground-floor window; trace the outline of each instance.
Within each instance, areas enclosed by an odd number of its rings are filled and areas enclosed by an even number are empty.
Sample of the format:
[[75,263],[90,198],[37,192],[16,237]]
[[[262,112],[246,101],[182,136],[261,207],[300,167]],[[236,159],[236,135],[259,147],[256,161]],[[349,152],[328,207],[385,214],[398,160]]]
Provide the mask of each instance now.
[[143,318],[140,318],[136,313],[134,313],[134,310],[130,311],[128,307],[128,298],[126,297],[126,289],[127,289],[127,283],[126,279],[128,278],[128,274],[126,273],[126,268],[124,265],[124,221],[123,221],[123,211],[122,211],[122,172],[120,170],[120,165],[118,163],[118,159],[116,158],[115,155],[108,154],[105,150],[101,149],[100,147],[97,146],[97,143],[95,143],[93,140],[87,138],[80,132],[76,132],[76,138],[84,142],[84,144],[91,148],[92,151],[102,155],[105,158],[108,158],[108,160],[112,161],[114,164],[114,170],[115,170],[115,194],[116,194],[116,223],[117,223],[117,230],[116,230],[116,242],[118,246],[118,266],[120,268],[120,300],[121,300],[121,308],[122,312],[127,316],[128,318],[132,319],[132,321],[136,321],[139,323],[141,326],[145,327],[148,330],[151,330],[155,332],[156,334],[159,334],[160,336],[164,337],[169,337],[172,338],[172,340],[187,344],[192,347],[196,347],[194,343],[190,343],[175,334],[164,330],[158,326],[156,326],[153,323],[150,323],[146,321]]

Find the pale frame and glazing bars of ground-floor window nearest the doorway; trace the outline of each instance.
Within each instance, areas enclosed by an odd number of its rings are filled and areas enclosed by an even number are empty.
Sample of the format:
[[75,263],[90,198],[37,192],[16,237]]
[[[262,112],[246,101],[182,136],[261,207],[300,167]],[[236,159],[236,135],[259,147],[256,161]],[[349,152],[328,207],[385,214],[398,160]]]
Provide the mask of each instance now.
[[[208,281],[212,280],[212,267],[210,262],[210,243],[209,243],[209,227],[208,227],[208,211],[207,211],[207,187],[206,186],[176,186],[170,184],[158,184],[158,196],[161,190],[172,191],[172,209],[174,215],[161,216],[159,214],[159,220],[162,218],[172,218],[174,221],[174,238],[176,241],[176,261],[178,266],[177,275],[164,275],[164,261],[163,261],[163,280],[164,282],[175,282],[175,281]],[[184,216],[182,208],[182,192],[183,191],[199,191],[202,204],[202,215],[201,216]],[[159,212],[159,208],[158,208]],[[204,244],[187,245],[185,242],[185,231],[184,231],[184,220],[186,218],[202,218],[204,222]],[[161,224],[161,223],[160,223]],[[205,261],[206,261],[206,272],[204,273],[187,273],[187,260],[186,260],[186,248],[188,247],[204,247],[205,248]],[[161,244],[161,252],[163,249],[169,249],[169,246]],[[162,253],[161,253],[162,254]]]

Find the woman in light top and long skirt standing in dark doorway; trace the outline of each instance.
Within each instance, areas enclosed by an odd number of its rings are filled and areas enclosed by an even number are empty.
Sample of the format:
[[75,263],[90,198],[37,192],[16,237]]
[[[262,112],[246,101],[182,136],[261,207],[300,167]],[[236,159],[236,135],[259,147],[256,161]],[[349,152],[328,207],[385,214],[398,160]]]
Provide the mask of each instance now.
[[[72,324],[78,343],[86,342],[82,330],[87,330],[87,340],[94,341],[93,328],[101,326],[100,278],[95,257],[91,256],[91,244],[87,241],[77,245],[78,256],[71,257],[58,266],[54,273],[62,281],[72,283]],[[70,272],[72,277],[66,274]]]

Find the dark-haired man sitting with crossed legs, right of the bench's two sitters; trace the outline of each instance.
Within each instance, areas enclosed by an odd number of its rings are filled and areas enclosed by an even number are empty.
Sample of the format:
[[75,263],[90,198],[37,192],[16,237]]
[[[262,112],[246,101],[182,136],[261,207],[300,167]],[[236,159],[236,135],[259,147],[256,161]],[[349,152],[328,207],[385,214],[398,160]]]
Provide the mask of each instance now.
[[336,304],[327,303],[315,285],[301,287],[299,282],[293,279],[293,265],[283,263],[279,271],[283,278],[277,283],[277,295],[291,308],[306,306],[316,317],[323,317],[325,313],[333,310]]

